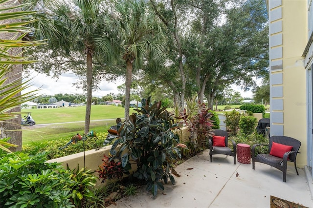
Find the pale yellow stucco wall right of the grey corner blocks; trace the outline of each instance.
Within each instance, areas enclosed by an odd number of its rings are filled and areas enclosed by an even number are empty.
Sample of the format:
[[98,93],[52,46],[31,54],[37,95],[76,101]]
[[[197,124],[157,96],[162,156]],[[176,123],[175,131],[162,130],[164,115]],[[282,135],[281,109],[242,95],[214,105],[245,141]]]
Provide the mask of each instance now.
[[284,135],[301,141],[300,167],[307,164],[306,70],[301,57],[308,40],[306,2],[282,1]]

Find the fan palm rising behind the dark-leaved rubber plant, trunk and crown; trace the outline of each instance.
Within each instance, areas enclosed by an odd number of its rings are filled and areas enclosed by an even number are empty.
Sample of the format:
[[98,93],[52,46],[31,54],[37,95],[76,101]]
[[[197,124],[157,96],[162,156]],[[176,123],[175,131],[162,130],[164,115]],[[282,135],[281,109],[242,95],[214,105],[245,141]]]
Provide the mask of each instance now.
[[166,58],[165,38],[156,14],[146,11],[143,0],[116,1],[104,21],[108,33],[97,42],[106,51],[108,62],[122,59],[126,65],[125,119],[128,119],[133,68],[139,69],[143,63],[154,71],[162,67]]

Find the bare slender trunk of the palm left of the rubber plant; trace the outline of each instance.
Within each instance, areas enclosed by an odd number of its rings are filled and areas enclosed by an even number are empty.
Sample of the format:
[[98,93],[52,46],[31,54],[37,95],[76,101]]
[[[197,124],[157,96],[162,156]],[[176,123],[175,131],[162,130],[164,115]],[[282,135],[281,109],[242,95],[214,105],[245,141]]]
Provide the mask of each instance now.
[[91,100],[92,100],[92,55],[87,50],[87,104],[85,115],[85,134],[89,132],[90,114],[91,114]]

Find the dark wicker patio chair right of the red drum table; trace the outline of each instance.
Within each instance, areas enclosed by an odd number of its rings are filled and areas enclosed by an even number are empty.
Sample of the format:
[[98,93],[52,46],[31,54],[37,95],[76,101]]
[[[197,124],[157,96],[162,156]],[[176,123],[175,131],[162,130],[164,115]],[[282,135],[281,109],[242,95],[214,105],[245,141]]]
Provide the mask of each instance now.
[[[272,145],[274,143],[292,146],[291,151],[287,151],[283,153],[283,157],[276,157],[273,155],[270,155]],[[255,150],[257,146],[268,146],[268,154],[258,154],[255,156]],[[283,181],[286,182],[286,174],[287,174],[287,162],[294,163],[295,171],[297,172],[297,175],[299,175],[297,166],[296,166],[296,157],[297,154],[300,153],[299,148],[301,146],[301,142],[293,139],[291,137],[286,136],[272,136],[269,137],[269,143],[268,145],[254,145],[252,146],[252,168],[254,169],[254,163],[264,163],[269,166],[275,167],[281,171],[283,171]]]

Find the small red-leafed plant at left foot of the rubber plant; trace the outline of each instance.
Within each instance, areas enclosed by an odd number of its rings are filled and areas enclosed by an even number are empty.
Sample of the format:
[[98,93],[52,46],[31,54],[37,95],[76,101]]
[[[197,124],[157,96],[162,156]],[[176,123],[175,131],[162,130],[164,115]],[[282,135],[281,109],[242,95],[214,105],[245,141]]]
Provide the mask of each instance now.
[[98,172],[99,178],[102,179],[101,183],[111,179],[121,179],[123,177],[124,168],[120,161],[115,162],[110,160],[106,155],[102,159],[103,164],[99,166]]

